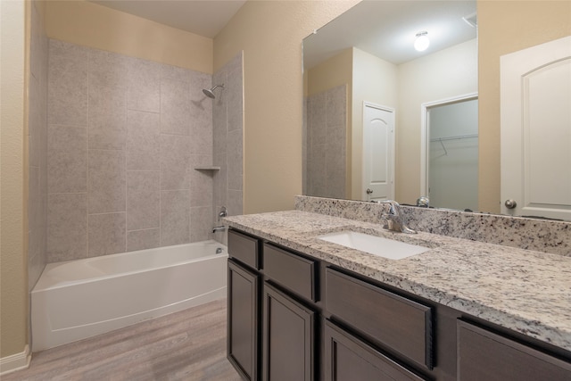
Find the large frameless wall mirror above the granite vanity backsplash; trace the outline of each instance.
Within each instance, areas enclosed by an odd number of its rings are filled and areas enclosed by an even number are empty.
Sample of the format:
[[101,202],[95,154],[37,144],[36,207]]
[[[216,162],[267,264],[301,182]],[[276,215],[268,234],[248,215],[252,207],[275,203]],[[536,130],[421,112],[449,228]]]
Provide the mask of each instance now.
[[304,195],[571,220],[569,3],[477,9],[365,0],[303,40]]

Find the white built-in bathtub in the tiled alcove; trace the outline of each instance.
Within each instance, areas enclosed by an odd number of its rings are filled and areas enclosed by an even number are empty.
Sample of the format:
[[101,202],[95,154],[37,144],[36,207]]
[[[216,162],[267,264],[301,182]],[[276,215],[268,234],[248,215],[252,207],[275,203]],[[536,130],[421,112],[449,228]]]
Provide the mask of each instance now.
[[227,258],[211,240],[50,263],[31,292],[32,351],[226,297]]

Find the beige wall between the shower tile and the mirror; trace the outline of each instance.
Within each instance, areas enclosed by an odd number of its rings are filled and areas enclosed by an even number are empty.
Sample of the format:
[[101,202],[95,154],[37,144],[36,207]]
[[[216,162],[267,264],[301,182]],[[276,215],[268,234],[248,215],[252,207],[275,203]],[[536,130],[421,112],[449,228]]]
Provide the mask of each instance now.
[[244,213],[302,193],[302,39],[357,1],[248,1],[214,38],[214,69],[244,50]]

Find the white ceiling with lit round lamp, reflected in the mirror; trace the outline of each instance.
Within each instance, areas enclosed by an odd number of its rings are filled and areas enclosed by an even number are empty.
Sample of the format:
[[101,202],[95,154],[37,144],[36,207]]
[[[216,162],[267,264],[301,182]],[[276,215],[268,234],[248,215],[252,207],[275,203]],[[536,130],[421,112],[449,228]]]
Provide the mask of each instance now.
[[[470,15],[476,15],[475,0],[363,1],[303,40],[304,66],[351,46],[394,64],[409,62],[476,38],[476,28],[462,20]],[[430,46],[420,53],[413,44],[424,30]]]

